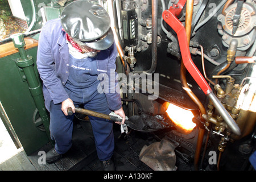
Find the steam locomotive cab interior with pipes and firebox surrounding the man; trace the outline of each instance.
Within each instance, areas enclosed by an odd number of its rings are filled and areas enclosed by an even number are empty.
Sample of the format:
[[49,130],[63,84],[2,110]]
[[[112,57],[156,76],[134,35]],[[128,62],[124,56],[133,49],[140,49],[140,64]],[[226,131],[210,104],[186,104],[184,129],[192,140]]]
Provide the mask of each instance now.
[[[44,23],[73,1],[20,2],[27,31],[0,40],[2,122],[35,170],[100,170],[88,114],[75,114],[64,158],[43,159],[54,142],[38,39]],[[256,2],[96,2],[112,21],[127,115],[127,132],[113,126],[117,170],[255,170]]]

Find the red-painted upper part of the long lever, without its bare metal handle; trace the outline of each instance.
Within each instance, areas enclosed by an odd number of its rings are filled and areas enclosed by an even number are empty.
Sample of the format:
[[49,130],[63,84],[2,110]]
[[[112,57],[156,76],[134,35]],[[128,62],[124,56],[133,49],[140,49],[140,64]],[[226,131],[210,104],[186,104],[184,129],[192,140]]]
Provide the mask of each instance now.
[[187,68],[190,75],[195,79],[200,88],[203,90],[203,92],[208,95],[210,92],[212,92],[212,89],[192,61],[185,28],[180,20],[176,18],[176,13],[177,9],[171,7],[169,10],[165,10],[162,16],[164,21],[166,21],[166,23],[168,23],[177,34],[181,56],[185,67]]

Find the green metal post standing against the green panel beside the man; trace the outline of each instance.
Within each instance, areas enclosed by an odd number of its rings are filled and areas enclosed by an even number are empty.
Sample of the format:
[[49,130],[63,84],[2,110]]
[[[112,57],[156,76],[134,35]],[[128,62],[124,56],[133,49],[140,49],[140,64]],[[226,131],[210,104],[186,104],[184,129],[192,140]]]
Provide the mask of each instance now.
[[42,86],[40,86],[40,83],[38,81],[38,78],[36,78],[33,68],[33,57],[27,55],[24,49],[24,46],[26,44],[23,34],[14,34],[11,36],[11,38],[13,39],[14,46],[19,49],[20,55],[20,58],[15,60],[15,63],[16,65],[18,65],[18,67],[22,68],[24,75],[26,76],[28,88],[30,89],[30,93],[33,97],[36,108],[38,109],[40,118],[42,119],[42,123],[46,131],[47,137],[49,138],[49,141],[53,144],[54,142],[53,140],[51,140],[49,132],[49,114],[47,113],[46,107],[44,105]]

